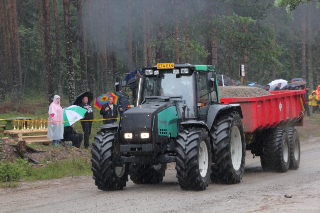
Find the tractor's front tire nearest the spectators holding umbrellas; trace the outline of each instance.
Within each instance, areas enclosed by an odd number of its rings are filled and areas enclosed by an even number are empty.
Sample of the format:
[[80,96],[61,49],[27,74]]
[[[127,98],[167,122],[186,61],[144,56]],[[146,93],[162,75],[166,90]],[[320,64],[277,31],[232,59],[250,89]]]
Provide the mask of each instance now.
[[98,189],[122,190],[128,181],[128,168],[126,164],[117,167],[115,152],[115,130],[101,130],[95,136],[92,143],[92,167],[93,179]]

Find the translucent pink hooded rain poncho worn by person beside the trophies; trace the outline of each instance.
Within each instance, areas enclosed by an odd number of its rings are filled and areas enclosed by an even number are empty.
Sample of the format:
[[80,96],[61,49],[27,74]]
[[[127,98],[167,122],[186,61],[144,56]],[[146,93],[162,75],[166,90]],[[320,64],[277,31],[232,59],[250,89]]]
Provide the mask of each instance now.
[[53,97],[53,102],[49,106],[49,124],[48,124],[48,138],[51,140],[64,139],[64,116],[62,108],[57,103],[59,95]]

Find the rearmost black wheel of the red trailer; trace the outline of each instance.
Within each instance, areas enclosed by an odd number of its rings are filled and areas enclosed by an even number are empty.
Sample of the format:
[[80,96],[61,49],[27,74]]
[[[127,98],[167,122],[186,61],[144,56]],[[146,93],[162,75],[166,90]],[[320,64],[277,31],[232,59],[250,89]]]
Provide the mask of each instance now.
[[290,165],[289,169],[298,169],[300,165],[300,139],[295,128],[286,129],[290,145]]

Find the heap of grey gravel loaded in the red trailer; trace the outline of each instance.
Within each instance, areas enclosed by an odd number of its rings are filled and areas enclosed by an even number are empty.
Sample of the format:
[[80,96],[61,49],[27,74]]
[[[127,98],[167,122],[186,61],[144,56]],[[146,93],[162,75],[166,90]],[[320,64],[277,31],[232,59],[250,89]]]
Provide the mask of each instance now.
[[258,96],[270,95],[270,92],[257,87],[229,86],[229,87],[219,87],[219,94],[220,94],[220,98],[258,97]]

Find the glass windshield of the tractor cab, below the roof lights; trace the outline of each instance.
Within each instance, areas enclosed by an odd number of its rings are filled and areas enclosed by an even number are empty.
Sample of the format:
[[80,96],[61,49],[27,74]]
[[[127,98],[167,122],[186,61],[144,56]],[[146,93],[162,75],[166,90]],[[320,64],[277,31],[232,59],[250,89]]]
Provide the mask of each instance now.
[[[177,78],[178,77],[178,78]],[[179,118],[182,117],[182,106],[183,102],[187,104],[186,107],[186,118],[195,117],[195,106],[194,106],[194,91],[193,86],[193,75],[192,76],[177,76],[172,74],[172,70],[162,71],[159,75],[150,76],[145,78],[143,94],[145,96],[176,96],[182,95],[180,98],[174,98],[177,106],[177,112]],[[160,101],[159,99],[147,99],[146,102]]]

